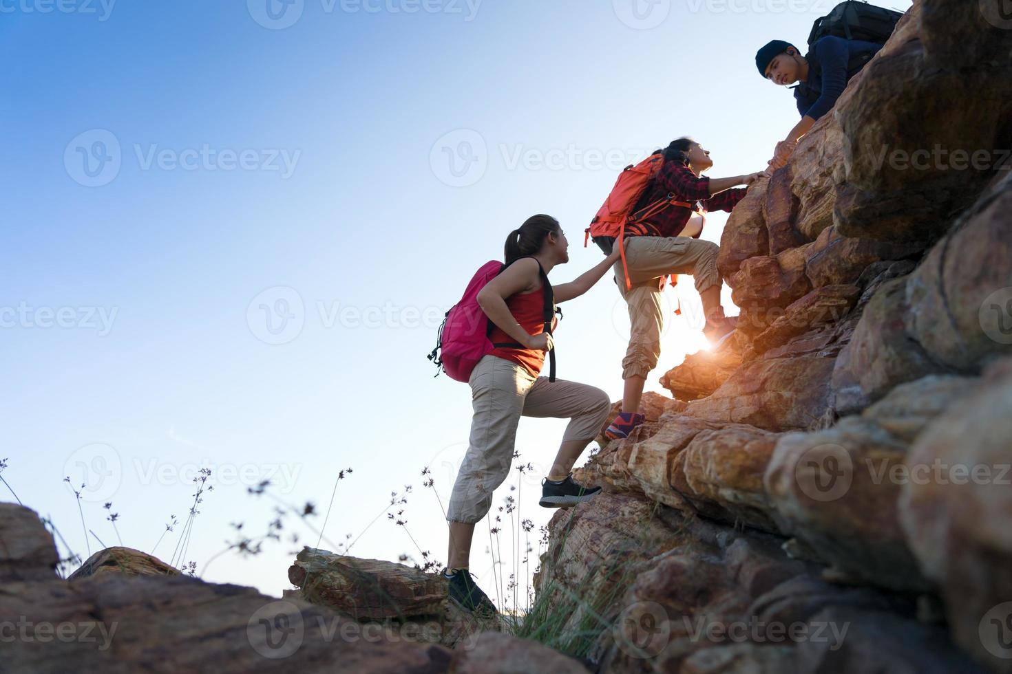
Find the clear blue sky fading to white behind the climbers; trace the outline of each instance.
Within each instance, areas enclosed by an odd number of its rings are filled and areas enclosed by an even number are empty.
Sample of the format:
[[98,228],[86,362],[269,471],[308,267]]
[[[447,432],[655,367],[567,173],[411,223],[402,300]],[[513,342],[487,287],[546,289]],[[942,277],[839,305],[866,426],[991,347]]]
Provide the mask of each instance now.
[[[327,537],[357,536],[410,484],[407,528],[445,561],[420,473],[445,503],[471,402],[432,378],[434,317],[533,213],[570,234],[557,283],[595,264],[582,230],[618,170],[678,135],[711,151],[713,176],[764,168],[796,112],[755,51],[804,42],[832,4],[0,1],[3,477],[82,556],[65,476],[89,484],[84,517],[108,545],[105,501],[146,551],[175,513],[168,559],[188,480],[209,466],[185,560],[200,573],[229,522],[271,519],[246,486],[271,477],[325,510],[351,467]],[[698,310],[689,279],[679,293]],[[617,398],[627,320],[610,278],[565,308],[560,376]],[[699,347],[687,318],[669,323],[654,390]],[[535,471],[520,516],[537,525],[563,427],[521,421]],[[472,567],[491,589],[483,540]],[[279,594],[297,547],[204,577]],[[352,553],[419,557],[386,516]]]

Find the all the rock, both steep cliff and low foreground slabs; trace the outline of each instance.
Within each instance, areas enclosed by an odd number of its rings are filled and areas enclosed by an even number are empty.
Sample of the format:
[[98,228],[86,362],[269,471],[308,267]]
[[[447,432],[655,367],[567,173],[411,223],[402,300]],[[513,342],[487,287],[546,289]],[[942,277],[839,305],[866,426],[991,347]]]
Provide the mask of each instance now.
[[[578,471],[525,634],[305,549],[281,599],[0,503],[3,671],[1012,672],[1012,19],[918,0],[720,268],[722,351]],[[1007,14],[1007,12],[1006,12]]]

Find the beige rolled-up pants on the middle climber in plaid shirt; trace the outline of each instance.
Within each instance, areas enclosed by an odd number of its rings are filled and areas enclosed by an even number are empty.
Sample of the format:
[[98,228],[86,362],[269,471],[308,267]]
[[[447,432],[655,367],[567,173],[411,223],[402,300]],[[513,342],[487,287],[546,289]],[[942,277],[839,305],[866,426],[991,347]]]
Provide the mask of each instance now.
[[721,283],[716,269],[720,247],[688,236],[631,236],[625,242],[625,262],[632,289],[626,290],[622,263],[615,263],[615,283],[628,305],[629,346],[622,359],[622,379],[646,377],[661,357],[664,313],[663,279],[671,274],[691,274],[702,292]]

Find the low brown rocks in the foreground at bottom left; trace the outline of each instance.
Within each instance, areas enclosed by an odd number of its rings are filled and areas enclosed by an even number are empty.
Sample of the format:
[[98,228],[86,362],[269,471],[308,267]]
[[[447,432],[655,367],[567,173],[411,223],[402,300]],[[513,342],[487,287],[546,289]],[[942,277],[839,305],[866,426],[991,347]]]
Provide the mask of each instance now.
[[[438,574],[306,549],[281,599],[129,548],[57,575],[38,515],[0,503],[4,672],[579,674],[577,660],[453,608]],[[448,648],[448,646],[452,646]]]

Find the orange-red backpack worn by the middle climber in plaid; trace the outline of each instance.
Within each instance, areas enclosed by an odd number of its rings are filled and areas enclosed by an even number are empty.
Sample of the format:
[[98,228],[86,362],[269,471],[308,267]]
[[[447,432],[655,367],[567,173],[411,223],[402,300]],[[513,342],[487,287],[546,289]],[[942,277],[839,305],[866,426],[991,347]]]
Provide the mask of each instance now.
[[[585,230],[583,239],[584,248],[591,237],[607,236],[618,242],[618,252],[622,259],[622,271],[625,273],[625,289],[630,290],[632,283],[629,281],[628,267],[625,265],[625,231],[631,230],[638,235],[647,233],[647,227],[642,224],[643,220],[648,220],[668,206],[683,206],[685,208],[695,208],[686,201],[678,201],[673,195],[668,198],[658,199],[647,204],[636,213],[632,209],[638,201],[647,191],[647,187],[657,177],[657,173],[664,165],[664,155],[655,153],[636,166],[629,165],[618,174],[615,186],[611,188],[611,193],[604,200],[604,205],[597,211],[597,215],[590,221],[590,226]],[[674,285],[677,277],[671,277]]]

